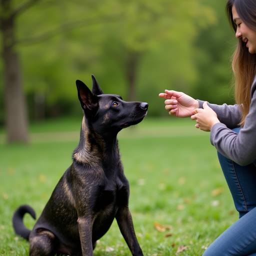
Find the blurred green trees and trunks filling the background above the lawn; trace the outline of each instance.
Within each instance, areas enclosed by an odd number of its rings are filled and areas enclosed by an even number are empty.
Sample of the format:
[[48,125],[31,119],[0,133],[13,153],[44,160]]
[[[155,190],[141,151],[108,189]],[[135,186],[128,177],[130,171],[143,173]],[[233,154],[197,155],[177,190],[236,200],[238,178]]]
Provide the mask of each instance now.
[[164,89],[233,103],[225,3],[2,0],[1,130],[27,141],[28,122],[80,115],[75,80],[91,87],[91,74],[105,93],[148,102],[148,116],[167,115]]

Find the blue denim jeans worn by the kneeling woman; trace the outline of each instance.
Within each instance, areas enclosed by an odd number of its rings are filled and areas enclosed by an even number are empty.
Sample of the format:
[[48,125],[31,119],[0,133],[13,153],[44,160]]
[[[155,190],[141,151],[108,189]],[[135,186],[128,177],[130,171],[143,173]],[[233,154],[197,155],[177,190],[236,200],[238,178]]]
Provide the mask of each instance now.
[[[239,132],[240,128],[233,129]],[[239,219],[220,234],[203,256],[256,256],[256,160],[241,166],[218,152]]]

